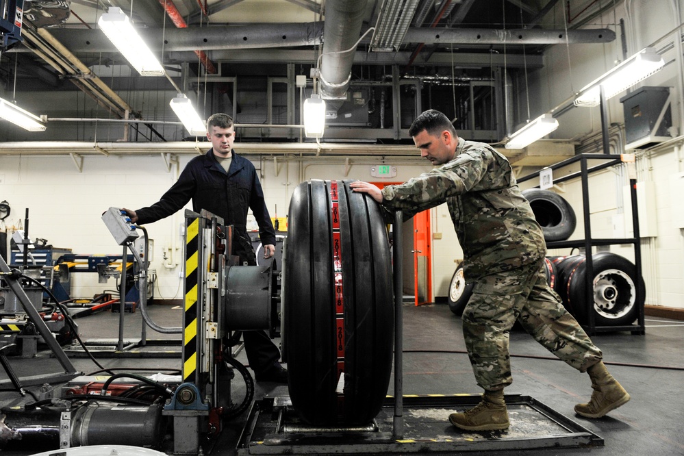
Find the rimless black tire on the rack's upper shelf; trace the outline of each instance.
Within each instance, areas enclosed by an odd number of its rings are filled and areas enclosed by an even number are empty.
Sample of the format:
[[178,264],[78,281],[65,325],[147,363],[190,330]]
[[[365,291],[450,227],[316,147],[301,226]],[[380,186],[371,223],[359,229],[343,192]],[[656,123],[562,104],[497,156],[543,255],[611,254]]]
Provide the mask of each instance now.
[[528,188],[522,196],[529,201],[546,242],[566,240],[577,226],[572,207],[561,195],[550,190]]

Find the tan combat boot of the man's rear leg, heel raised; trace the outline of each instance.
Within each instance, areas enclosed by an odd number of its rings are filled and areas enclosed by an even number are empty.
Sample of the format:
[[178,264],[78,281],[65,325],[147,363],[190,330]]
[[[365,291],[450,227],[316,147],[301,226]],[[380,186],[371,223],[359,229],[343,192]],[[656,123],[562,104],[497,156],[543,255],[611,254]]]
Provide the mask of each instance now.
[[629,401],[629,393],[622,388],[616,379],[613,379],[603,362],[598,362],[598,364],[588,368],[587,373],[592,378],[594,393],[589,403],[574,406],[574,411],[578,415],[587,418],[600,418]]

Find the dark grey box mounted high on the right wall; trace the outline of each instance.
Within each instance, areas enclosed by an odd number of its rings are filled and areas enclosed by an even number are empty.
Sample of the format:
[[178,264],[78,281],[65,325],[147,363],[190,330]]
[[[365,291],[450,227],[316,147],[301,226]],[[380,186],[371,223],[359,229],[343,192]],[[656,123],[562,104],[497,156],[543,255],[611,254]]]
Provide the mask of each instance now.
[[669,87],[642,87],[620,99],[624,110],[625,149],[646,149],[672,139]]

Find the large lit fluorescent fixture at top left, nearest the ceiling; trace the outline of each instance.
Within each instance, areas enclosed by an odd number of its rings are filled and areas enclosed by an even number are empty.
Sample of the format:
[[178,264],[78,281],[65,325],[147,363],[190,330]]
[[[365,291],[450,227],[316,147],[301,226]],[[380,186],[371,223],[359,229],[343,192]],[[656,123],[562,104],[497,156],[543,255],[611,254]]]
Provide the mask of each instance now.
[[164,75],[164,67],[140,38],[121,8],[110,7],[100,16],[97,25],[140,76]]

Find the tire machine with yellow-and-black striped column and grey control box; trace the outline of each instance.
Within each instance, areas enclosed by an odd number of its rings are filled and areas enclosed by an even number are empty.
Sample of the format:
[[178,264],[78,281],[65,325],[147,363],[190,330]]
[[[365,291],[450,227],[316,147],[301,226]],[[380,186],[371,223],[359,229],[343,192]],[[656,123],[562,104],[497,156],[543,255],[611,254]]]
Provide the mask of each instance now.
[[[118,244],[130,244],[137,237],[136,227],[116,208],[110,208],[103,220]],[[233,367],[245,377],[251,400],[249,373],[232,359],[227,345],[233,331],[268,329],[272,338],[279,333],[275,265],[238,264],[238,257],[231,254],[232,227],[223,225],[222,218],[186,210],[185,220],[181,383],[162,411],[173,420],[173,434],[182,435],[173,440],[176,455],[198,454],[201,442],[222,431],[223,419],[246,409],[248,404],[231,401]],[[142,262],[138,257],[136,261]],[[140,268],[141,289],[145,269]]]

